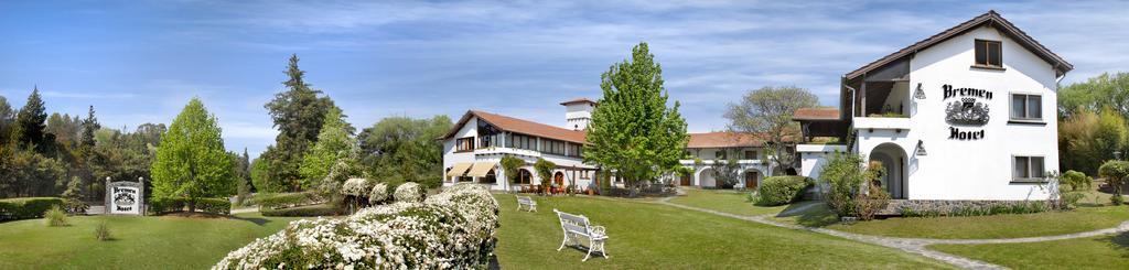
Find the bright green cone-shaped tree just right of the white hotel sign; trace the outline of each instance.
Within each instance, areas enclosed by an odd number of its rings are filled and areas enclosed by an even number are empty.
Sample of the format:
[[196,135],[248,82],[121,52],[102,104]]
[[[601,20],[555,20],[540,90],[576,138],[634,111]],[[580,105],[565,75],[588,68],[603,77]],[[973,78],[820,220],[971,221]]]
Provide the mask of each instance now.
[[196,199],[235,193],[231,156],[224,149],[219,123],[199,98],[192,98],[161,136],[152,164],[155,198]]

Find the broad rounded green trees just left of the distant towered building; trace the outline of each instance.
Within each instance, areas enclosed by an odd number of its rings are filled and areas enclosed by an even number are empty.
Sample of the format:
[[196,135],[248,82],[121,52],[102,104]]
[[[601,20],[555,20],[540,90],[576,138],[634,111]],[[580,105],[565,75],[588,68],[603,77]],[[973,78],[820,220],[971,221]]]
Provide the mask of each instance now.
[[380,180],[441,184],[435,176],[443,172],[443,142],[436,138],[453,125],[446,115],[382,119],[357,136],[366,173]]

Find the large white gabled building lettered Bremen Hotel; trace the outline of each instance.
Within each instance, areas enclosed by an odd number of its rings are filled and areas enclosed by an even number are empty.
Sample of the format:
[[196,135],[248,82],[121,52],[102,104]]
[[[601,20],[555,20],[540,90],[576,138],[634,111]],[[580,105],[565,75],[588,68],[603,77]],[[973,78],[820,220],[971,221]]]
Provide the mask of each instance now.
[[893,199],[1045,200],[1058,167],[1057,85],[1070,63],[989,11],[842,77],[839,110],[796,113],[802,174],[830,153],[886,168]]

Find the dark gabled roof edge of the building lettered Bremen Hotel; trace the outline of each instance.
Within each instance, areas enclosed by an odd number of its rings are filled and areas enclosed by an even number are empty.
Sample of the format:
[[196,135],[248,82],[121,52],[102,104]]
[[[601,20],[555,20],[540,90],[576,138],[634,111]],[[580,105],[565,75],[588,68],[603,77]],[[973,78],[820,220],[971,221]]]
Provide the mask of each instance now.
[[1031,51],[1035,55],[1039,55],[1044,61],[1053,66],[1054,69],[1057,70],[1057,75],[1065,75],[1066,72],[1074,69],[1073,64],[1064,60],[1058,54],[1051,52],[1051,50],[1040,44],[1038,41],[1035,41],[1035,38],[1029,36],[1027,33],[1024,33],[1018,27],[1015,27],[1015,25],[1013,25],[1012,21],[1007,21],[1007,19],[1004,19],[1004,17],[997,14],[996,10],[989,10],[987,14],[977,16],[975,18],[961,23],[960,25],[953,26],[953,28],[948,28],[942,33],[930,36],[929,38],[925,38],[924,41],[913,43],[913,45],[907,46],[905,49],[899,50],[898,52],[891,53],[890,55],[886,55],[882,59],[878,59],[874,62],[863,66],[861,68],[847,73],[846,77],[847,79],[854,79],[866,72],[886,66],[887,63],[912,55],[918,51],[926,50],[933,45],[939,44],[944,41],[964,34],[969,31],[975,29],[982,25],[988,25],[996,27],[997,29],[1000,29],[1000,32],[1006,34],[1008,37],[1015,40],[1017,43],[1026,47],[1029,51]]

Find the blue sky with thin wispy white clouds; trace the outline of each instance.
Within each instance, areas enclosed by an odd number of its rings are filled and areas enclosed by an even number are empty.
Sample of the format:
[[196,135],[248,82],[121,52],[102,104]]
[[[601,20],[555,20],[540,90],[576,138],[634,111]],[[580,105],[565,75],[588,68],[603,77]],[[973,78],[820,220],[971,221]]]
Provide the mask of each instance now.
[[1129,2],[1089,1],[0,1],[0,95],[133,130],[192,97],[229,150],[278,131],[263,105],[296,53],[358,129],[467,110],[563,125],[560,102],[647,42],[691,132],[727,104],[797,86],[834,106],[839,78],[997,10],[1075,66],[1062,84],[1129,71]]

